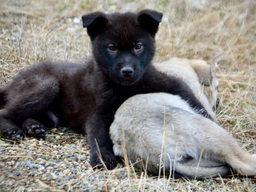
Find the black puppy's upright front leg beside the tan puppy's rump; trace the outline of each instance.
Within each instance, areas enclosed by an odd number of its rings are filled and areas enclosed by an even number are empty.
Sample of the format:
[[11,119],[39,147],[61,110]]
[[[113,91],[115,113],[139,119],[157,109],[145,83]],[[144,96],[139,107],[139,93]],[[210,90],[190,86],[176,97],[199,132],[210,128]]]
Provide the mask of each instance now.
[[109,137],[109,127],[114,115],[95,113],[86,123],[86,133],[90,144],[90,164],[94,168],[106,166],[115,168],[117,161],[113,152],[113,143]]

